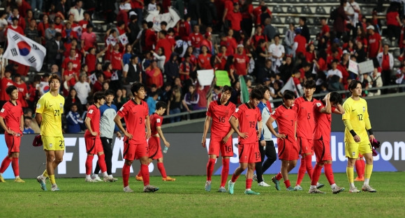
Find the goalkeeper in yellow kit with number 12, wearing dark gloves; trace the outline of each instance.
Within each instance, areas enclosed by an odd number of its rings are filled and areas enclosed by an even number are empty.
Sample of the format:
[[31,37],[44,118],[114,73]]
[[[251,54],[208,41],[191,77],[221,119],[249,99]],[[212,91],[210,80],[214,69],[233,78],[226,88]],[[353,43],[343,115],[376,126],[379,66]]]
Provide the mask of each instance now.
[[[362,95],[362,84],[358,80],[351,81],[348,84],[348,90],[351,92],[351,97],[346,99],[343,104],[344,115],[342,119],[344,121],[344,148],[346,157],[348,157],[346,174],[348,182],[350,183],[349,192],[361,192],[359,191],[353,182],[355,161],[361,153],[366,159],[366,167],[364,173],[364,184],[362,190],[364,192],[376,192],[369,185],[371,173],[373,171],[373,156],[371,150],[371,144],[368,140],[374,140],[373,130],[371,130],[371,123],[369,119],[369,112],[367,109],[367,102],[360,98]],[[367,130],[367,131],[366,131]],[[367,136],[369,132],[369,136]]]

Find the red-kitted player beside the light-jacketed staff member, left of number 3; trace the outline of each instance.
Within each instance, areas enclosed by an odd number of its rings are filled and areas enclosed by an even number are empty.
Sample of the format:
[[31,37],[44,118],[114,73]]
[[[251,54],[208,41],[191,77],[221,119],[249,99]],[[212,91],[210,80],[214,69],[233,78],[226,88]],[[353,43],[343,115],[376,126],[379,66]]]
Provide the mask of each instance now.
[[91,170],[93,169],[94,154],[98,155],[98,165],[103,172],[104,182],[115,182],[114,178],[108,176],[107,166],[105,166],[105,155],[103,150],[103,143],[100,139],[100,106],[105,102],[105,95],[103,91],[98,91],[93,95],[94,104],[87,109],[86,119],[84,124],[87,127],[84,132],[84,141],[86,143],[86,182],[97,182],[91,178]]

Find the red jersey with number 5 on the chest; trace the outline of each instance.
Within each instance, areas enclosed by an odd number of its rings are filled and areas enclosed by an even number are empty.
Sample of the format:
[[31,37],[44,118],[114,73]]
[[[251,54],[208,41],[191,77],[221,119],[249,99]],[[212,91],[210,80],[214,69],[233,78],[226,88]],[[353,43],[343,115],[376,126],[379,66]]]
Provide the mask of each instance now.
[[297,113],[297,137],[305,139],[312,139],[314,132],[314,104],[316,100],[312,98],[311,101],[307,98],[300,97],[294,101],[293,110]]

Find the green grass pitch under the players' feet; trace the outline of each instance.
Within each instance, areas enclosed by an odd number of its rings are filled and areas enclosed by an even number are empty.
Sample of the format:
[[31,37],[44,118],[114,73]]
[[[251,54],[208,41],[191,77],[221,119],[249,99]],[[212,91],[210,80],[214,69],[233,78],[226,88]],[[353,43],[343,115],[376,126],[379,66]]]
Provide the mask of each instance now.
[[[6,180],[0,183],[0,217],[405,217],[404,173],[373,173],[371,185],[376,193],[348,193],[346,174],[335,173],[337,185],[346,187],[340,194],[308,194],[309,179],[302,182],[304,191],[286,192],[272,187],[258,187],[260,196],[244,194],[244,176],[235,184],[235,194],[218,193],[219,176],[212,180],[212,191],[205,192],[205,176],[177,176],[175,182],[151,177],[159,192],[143,193],[142,182],[130,178],[134,193],[122,191],[122,180],[86,183],[84,178],[59,178],[60,192],[43,192],[38,182]],[[295,181],[296,175],[290,175]],[[230,177],[229,177],[230,178]],[[327,183],[321,175],[320,182]],[[293,182],[292,182],[293,183]],[[361,188],[362,182],[355,185]],[[228,185],[227,185],[228,186]],[[50,189],[49,181],[47,187]]]

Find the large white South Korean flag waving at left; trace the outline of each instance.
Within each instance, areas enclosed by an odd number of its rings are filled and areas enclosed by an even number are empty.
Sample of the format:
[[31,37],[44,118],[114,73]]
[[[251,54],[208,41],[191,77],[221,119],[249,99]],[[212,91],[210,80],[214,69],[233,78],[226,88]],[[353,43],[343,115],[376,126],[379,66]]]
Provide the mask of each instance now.
[[34,40],[22,36],[20,33],[8,29],[7,31],[8,46],[3,57],[15,62],[36,68],[40,71],[43,65],[43,59],[46,56],[46,49]]

